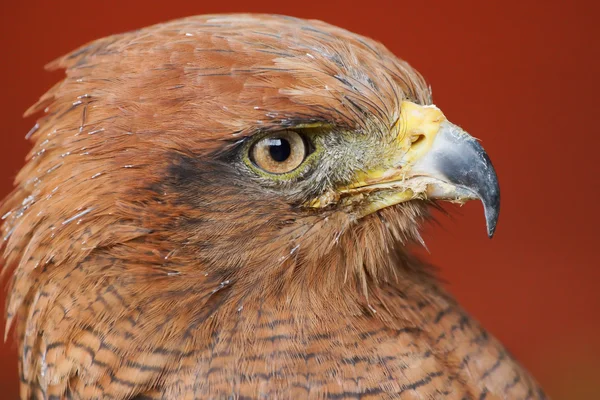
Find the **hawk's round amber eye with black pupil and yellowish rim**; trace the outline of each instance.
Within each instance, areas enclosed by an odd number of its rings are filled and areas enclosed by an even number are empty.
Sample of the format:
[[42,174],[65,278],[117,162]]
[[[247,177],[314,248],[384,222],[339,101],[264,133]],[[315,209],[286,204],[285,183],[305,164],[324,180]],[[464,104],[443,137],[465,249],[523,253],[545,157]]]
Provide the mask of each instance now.
[[270,174],[285,174],[298,168],[307,156],[305,140],[294,131],[280,131],[263,137],[250,148],[250,159]]

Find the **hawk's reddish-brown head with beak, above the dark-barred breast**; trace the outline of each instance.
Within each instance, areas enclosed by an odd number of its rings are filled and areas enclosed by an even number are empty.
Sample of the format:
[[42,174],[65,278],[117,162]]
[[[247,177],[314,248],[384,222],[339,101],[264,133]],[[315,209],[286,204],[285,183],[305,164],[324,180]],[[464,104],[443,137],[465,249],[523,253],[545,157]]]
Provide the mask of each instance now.
[[365,37],[201,16],[92,42],[50,68],[66,78],[29,111],[45,114],[4,205],[9,319],[45,285],[137,282],[121,295],[138,300],[206,282],[366,288],[397,277],[435,200],[482,200],[494,232],[486,153]]

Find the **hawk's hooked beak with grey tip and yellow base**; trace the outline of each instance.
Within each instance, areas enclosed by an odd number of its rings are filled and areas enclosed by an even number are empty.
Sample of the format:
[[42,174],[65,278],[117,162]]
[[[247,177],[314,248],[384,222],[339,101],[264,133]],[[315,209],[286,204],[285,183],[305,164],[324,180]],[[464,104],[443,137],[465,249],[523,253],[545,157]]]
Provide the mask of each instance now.
[[500,211],[500,188],[477,139],[449,122],[435,106],[404,101],[392,154],[385,166],[359,173],[339,195],[360,199],[361,216],[412,199],[483,203],[488,236]]

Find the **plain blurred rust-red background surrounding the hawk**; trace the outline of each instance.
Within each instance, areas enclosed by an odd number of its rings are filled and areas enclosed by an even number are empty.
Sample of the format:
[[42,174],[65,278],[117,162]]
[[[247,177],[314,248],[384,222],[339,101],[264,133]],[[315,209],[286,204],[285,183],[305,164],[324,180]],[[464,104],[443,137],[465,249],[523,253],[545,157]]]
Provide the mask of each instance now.
[[[3,0],[0,10],[0,198],[29,149],[35,120],[22,113],[62,77],[43,66],[87,41],[243,11],[321,19],[383,42],[483,141],[502,188],[493,240],[480,204],[450,206],[425,229],[427,257],[550,397],[600,398],[597,2]],[[16,398],[10,339],[0,359],[0,397]]]

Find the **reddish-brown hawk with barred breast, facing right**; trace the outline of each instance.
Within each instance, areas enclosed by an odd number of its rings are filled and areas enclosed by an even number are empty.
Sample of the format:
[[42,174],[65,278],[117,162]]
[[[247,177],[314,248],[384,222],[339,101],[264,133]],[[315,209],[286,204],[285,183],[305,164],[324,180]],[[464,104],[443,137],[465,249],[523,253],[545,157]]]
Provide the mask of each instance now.
[[208,15],[48,67],[0,214],[22,399],[544,398],[408,250],[499,188],[382,44]]

